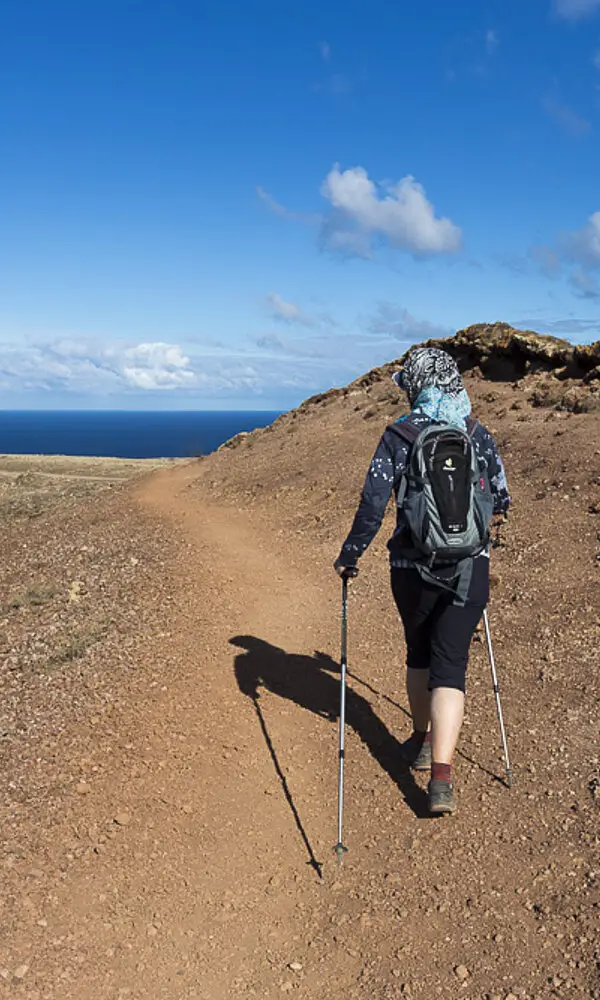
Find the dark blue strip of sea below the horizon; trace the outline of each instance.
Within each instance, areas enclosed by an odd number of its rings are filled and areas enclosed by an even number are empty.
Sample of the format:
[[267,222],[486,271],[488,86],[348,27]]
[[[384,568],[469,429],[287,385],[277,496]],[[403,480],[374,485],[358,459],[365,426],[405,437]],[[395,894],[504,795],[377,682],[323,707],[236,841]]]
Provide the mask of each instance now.
[[190,458],[277,416],[265,410],[0,410],[0,453]]

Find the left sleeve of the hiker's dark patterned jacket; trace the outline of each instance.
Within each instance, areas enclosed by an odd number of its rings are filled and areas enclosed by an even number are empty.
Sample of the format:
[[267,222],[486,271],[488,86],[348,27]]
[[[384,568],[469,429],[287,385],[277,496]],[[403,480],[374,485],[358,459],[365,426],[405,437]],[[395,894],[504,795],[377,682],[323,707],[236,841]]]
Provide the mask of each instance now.
[[[407,450],[403,450],[404,459]],[[398,459],[384,434],[371,461],[350,534],[342,546],[342,566],[355,566],[379,531],[398,475]]]

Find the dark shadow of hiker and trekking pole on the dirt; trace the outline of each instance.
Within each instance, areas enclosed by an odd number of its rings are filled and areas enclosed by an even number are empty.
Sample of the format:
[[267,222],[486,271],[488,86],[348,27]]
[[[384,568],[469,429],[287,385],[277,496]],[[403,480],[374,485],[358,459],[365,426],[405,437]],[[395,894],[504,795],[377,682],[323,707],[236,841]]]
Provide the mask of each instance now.
[[[255,636],[238,635],[229,641],[232,646],[244,650],[235,658],[235,676],[240,691],[253,702],[275,770],[308,850],[309,864],[320,875],[321,865],[314,856],[269,736],[260,707],[260,690],[264,688],[315,715],[336,722],[340,707],[340,665],[325,653],[315,652],[314,656],[286,653]],[[346,695],[346,723],[397,785],[415,815],[419,818],[428,816],[427,797],[403,762],[398,740],[375,714],[369,702],[350,686]]]

